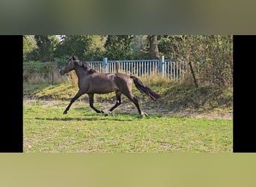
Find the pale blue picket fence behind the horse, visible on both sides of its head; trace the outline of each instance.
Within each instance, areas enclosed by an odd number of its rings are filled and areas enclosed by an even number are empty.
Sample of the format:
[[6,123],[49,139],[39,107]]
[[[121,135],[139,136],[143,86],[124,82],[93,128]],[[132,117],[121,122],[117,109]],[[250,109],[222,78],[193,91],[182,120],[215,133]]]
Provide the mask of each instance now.
[[[156,60],[124,60],[124,61],[86,61],[91,68],[100,73],[127,73],[136,76],[155,76],[162,75],[171,80],[182,79],[183,73],[186,71],[185,61],[174,61],[164,59],[162,56]],[[23,72],[26,73],[51,73],[61,68],[60,65],[52,62],[35,63],[24,62]]]

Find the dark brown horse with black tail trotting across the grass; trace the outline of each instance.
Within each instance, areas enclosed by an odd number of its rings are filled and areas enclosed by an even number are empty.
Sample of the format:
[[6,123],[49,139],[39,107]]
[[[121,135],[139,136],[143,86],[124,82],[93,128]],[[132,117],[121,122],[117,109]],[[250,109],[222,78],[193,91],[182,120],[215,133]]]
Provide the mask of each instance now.
[[131,102],[134,103],[138,109],[139,115],[147,116],[147,113],[141,111],[141,108],[138,105],[138,99],[132,95],[132,80],[138,91],[147,94],[147,96],[149,96],[153,101],[156,101],[156,99],[159,99],[160,97],[159,93],[152,91],[135,76],[128,76],[125,73],[99,73],[92,69],[88,63],[79,61],[75,55],[67,61],[64,67],[61,67],[60,74],[61,76],[64,76],[72,70],[75,70],[76,76],[78,77],[79,91],[76,93],[76,96],[71,99],[70,104],[67,105],[63,114],[67,114],[72,103],[85,93],[89,96],[90,107],[97,113],[104,113],[104,111],[98,110],[94,107],[94,94],[111,93],[115,91],[115,105],[106,112],[106,115],[109,115],[118,107],[118,105],[121,105],[121,95],[124,94]]

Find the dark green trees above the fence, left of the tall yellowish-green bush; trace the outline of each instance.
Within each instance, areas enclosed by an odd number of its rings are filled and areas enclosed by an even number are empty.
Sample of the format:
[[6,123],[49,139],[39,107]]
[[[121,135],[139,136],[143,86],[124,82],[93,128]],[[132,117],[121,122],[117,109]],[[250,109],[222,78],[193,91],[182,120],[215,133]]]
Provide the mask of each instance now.
[[67,61],[72,55],[84,61],[101,61],[103,57],[109,60],[150,59],[151,37],[157,40],[157,36],[143,35],[25,35],[23,58],[24,61],[42,62],[55,58]]

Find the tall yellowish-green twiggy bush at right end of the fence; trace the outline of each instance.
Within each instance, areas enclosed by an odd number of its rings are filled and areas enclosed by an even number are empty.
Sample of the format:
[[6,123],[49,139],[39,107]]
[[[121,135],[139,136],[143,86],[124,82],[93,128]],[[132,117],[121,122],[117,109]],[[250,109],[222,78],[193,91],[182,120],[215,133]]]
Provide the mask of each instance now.
[[[170,58],[191,62],[200,84],[233,85],[233,37],[231,35],[175,35],[159,40],[159,51]],[[187,76],[192,79],[192,76]]]

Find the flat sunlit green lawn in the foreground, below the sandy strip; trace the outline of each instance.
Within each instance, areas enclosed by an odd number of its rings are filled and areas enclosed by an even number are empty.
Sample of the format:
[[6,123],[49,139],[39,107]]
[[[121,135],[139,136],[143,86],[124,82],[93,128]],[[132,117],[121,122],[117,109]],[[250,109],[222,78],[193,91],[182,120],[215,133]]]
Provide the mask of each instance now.
[[95,113],[88,102],[79,101],[64,115],[68,103],[24,102],[25,153],[233,151],[233,120],[161,114],[141,118],[135,108],[130,114],[122,112],[122,105],[106,117]]

